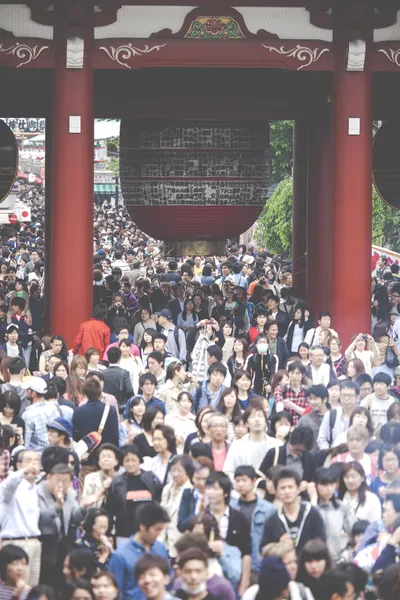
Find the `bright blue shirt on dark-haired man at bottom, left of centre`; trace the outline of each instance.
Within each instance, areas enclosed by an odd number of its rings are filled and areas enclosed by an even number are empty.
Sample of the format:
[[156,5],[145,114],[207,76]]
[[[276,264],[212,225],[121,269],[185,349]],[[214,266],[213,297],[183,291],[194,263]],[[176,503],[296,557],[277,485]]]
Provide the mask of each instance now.
[[147,553],[145,548],[135,541],[132,535],[129,542],[120,546],[110,558],[109,571],[114,573],[122,600],[146,600],[140,590],[134,575],[135,565],[145,554],[157,554],[169,563],[168,552],[164,544],[154,542]]

